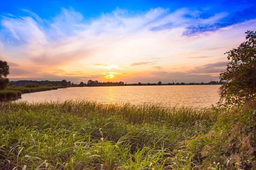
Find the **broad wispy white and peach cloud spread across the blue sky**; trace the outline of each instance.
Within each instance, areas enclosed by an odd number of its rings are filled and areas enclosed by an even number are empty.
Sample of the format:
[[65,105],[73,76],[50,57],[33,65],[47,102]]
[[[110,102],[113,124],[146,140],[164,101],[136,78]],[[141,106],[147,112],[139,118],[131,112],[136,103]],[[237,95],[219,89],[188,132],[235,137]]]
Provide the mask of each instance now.
[[[19,63],[12,65],[12,77],[40,77],[46,72],[79,74],[74,70],[83,71],[84,77],[99,78],[122,71],[136,77],[134,74],[142,68],[142,74],[146,74],[145,71],[153,68],[162,71],[172,65],[165,70],[168,72],[198,64],[202,66],[187,74],[217,74],[224,66],[213,67],[207,62],[216,62],[225,51],[239,45],[244,40],[244,30],[256,28],[256,20],[244,22],[240,18],[229,22],[230,13],[209,14],[206,10],[189,8],[176,11],[152,8],[139,13],[117,8],[96,18],[86,18],[73,8],[62,8],[60,14],[49,20],[42,20],[32,11],[23,11],[25,15],[6,15],[0,19],[1,57],[9,63]],[[226,26],[225,23],[236,24]],[[189,59],[184,59],[186,56]],[[154,64],[161,67],[147,67],[148,70],[135,67]],[[102,68],[108,73],[102,74],[105,71]]]

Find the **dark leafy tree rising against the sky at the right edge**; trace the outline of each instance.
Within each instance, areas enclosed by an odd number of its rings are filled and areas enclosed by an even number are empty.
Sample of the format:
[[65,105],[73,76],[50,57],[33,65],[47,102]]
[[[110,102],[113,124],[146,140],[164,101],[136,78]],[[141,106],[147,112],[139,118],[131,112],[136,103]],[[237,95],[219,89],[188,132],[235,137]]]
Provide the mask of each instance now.
[[224,105],[240,105],[256,97],[256,34],[245,34],[246,42],[224,53],[231,60],[220,74],[220,80],[226,82],[219,89]]

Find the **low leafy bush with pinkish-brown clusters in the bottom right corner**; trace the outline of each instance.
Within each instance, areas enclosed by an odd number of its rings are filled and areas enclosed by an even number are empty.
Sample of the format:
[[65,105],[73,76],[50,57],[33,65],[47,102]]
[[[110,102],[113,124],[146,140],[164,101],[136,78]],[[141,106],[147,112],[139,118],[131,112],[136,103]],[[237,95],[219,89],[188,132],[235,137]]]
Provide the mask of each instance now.
[[256,101],[219,116],[208,134],[186,142],[194,161],[216,170],[256,168]]

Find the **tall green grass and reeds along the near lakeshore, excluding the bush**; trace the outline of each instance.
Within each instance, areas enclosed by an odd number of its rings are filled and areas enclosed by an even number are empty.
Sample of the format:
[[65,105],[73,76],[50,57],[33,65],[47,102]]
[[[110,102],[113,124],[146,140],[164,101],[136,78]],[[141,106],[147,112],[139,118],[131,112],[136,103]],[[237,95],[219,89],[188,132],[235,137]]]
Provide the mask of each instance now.
[[193,153],[177,152],[180,143],[208,133],[216,117],[209,109],[89,101],[1,102],[0,115],[5,170],[189,169]]

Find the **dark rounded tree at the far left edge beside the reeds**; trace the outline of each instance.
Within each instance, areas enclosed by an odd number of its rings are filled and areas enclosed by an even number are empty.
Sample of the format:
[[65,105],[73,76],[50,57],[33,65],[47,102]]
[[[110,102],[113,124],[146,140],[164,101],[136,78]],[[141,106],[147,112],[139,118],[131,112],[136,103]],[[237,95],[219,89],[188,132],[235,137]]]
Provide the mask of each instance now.
[[10,84],[9,79],[6,78],[10,74],[9,69],[7,62],[0,60],[0,90],[5,89]]

